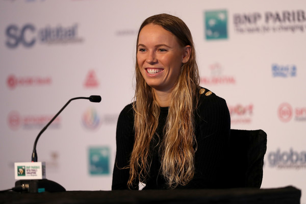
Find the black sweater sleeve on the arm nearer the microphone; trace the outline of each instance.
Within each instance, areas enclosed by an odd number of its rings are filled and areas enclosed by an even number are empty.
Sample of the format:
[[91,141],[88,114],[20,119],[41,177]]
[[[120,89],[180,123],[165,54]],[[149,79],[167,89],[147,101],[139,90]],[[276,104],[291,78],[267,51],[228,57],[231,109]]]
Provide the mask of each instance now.
[[[130,157],[134,145],[134,113],[132,105],[127,105],[120,113],[116,129],[116,158],[113,170],[112,190],[127,188],[130,177]],[[137,182],[138,183],[138,182]],[[132,189],[138,189],[138,185]]]

